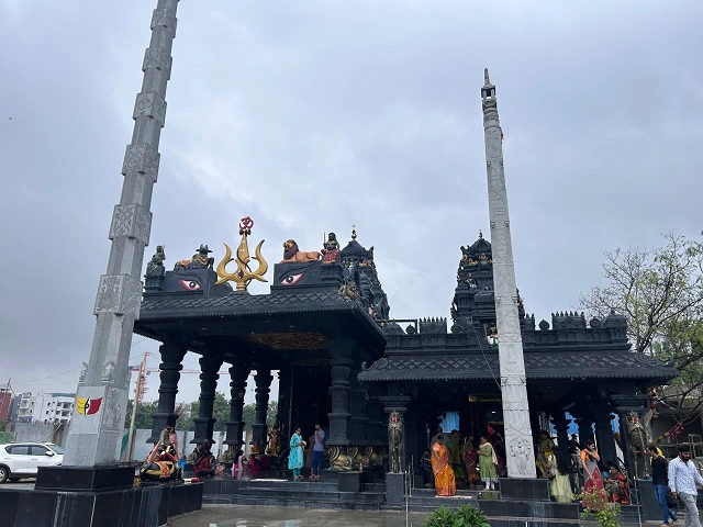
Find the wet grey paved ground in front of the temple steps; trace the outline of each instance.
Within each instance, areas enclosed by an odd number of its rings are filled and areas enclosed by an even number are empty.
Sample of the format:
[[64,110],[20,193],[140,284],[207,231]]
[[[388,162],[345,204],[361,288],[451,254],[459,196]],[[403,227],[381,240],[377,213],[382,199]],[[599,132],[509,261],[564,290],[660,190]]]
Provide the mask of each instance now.
[[420,527],[425,514],[402,511],[333,511],[302,507],[203,505],[168,520],[168,527]]

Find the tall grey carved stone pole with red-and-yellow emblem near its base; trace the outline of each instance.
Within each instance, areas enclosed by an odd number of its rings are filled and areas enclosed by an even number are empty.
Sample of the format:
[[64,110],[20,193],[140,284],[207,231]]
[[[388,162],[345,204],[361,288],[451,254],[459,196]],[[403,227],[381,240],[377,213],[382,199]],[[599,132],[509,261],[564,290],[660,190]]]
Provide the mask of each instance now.
[[166,116],[178,0],[158,0],[144,81],[134,104],[134,132],[122,165],[124,182],[110,224],[107,273],[100,277],[97,315],[85,382],[78,386],[66,439],[65,466],[93,467],[120,459],[130,388],[129,359],[142,301],[142,264],[152,231],[152,191],[158,175],[158,143]]

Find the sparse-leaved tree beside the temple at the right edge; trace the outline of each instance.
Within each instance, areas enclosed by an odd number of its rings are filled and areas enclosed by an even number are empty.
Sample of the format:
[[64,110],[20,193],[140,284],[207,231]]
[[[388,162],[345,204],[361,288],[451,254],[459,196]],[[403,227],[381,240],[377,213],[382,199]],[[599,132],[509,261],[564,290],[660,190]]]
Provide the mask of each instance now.
[[605,253],[606,284],[579,304],[601,319],[624,315],[634,351],[673,360],[681,377],[657,393],[685,424],[703,405],[703,244],[678,233],[663,238],[661,247]]

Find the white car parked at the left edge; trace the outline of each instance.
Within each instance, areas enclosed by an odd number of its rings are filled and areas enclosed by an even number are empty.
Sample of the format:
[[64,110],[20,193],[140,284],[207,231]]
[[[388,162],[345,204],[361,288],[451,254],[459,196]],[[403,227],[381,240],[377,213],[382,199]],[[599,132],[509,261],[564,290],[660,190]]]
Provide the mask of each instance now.
[[0,483],[36,478],[40,467],[64,461],[64,449],[53,442],[8,442],[0,445]]

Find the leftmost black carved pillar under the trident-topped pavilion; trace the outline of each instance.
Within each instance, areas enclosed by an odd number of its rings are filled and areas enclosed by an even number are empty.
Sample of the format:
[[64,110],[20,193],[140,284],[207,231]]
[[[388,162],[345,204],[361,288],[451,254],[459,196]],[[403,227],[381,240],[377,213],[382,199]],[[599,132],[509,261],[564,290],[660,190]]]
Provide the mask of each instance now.
[[[159,369],[158,388],[158,411],[152,415],[152,437],[146,442],[156,442],[166,424],[176,424],[176,394],[178,393],[178,381],[180,370],[183,369],[181,362],[188,349],[180,344],[163,344],[158,348],[161,354]],[[135,402],[136,404],[136,402]]]

